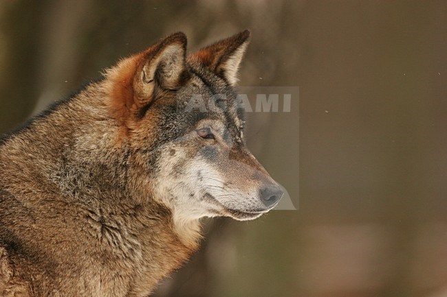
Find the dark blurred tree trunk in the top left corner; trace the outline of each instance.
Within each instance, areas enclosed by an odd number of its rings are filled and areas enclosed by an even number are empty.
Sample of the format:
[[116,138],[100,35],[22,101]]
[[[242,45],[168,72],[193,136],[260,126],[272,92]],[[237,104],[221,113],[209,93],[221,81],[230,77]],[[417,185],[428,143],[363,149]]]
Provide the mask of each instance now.
[[1,5],[0,133],[23,122],[39,97],[41,22],[46,1],[6,1]]

